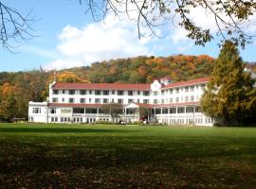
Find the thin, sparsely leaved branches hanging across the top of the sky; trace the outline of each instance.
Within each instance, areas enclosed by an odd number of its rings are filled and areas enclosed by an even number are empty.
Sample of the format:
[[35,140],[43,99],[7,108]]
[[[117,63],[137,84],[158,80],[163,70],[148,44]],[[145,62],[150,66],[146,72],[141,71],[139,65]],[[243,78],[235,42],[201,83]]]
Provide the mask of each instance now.
[[[217,34],[224,41],[245,46],[251,42],[252,34],[245,32],[244,25],[255,14],[254,0],[80,0],[86,12],[95,20],[102,20],[108,12],[120,18],[126,15],[137,22],[138,36],[145,36],[148,27],[155,36],[155,27],[177,23],[188,31],[187,36],[196,44],[205,45],[213,39],[214,31],[196,24],[192,11],[203,9],[215,22]],[[29,15],[29,14],[28,14]],[[30,34],[30,19],[19,11],[10,9],[0,1],[0,42],[9,48],[9,39],[26,39]]]

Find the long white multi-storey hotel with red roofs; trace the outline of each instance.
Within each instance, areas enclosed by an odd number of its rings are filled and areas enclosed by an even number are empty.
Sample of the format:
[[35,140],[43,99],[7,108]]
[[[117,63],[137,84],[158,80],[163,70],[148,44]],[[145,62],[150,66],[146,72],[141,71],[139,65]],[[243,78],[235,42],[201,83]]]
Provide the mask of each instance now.
[[[139,107],[151,110],[150,120],[167,125],[212,126],[200,112],[200,97],[208,77],[172,82],[169,77],[152,84],[58,83],[49,85],[47,102],[29,102],[28,121],[42,123],[134,122]],[[102,104],[120,103],[123,113],[115,120],[101,112]]]

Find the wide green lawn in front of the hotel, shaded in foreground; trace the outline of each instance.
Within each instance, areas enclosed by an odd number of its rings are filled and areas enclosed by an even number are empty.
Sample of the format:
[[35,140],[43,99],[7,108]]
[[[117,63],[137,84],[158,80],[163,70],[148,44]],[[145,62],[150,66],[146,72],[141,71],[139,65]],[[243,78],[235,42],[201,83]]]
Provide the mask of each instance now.
[[0,188],[256,188],[256,128],[0,124]]

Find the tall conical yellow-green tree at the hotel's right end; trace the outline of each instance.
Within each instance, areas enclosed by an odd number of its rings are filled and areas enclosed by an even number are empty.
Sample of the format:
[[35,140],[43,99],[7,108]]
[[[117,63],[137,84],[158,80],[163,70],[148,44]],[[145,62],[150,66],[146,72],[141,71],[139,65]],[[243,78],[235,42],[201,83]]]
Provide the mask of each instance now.
[[255,80],[244,71],[234,43],[224,43],[201,98],[202,111],[223,124],[241,124],[255,116]]

